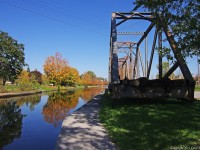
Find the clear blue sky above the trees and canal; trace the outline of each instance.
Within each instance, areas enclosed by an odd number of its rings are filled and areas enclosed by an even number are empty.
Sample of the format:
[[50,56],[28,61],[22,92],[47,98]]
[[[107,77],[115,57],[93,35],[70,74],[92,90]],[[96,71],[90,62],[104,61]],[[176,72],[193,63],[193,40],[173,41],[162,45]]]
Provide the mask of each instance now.
[[131,11],[132,1],[0,0],[0,30],[25,45],[31,70],[43,73],[45,59],[59,52],[80,74],[107,78],[111,13]]

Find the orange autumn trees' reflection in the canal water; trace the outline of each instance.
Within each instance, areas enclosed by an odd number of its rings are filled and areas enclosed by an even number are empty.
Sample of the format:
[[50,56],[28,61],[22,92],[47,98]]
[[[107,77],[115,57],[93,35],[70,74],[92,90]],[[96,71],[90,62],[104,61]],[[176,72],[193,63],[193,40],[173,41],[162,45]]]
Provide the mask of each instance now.
[[43,107],[44,120],[54,127],[59,126],[68,112],[78,105],[79,98],[87,102],[103,90],[103,88],[90,88],[52,93]]

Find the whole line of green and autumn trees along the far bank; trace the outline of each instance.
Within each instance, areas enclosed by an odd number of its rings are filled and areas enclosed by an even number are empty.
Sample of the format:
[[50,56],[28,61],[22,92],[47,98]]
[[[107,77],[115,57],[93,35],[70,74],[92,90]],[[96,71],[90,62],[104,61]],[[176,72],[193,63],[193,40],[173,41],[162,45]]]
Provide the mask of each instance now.
[[0,79],[2,85],[6,81],[16,83],[22,88],[29,85],[52,84],[54,86],[94,86],[107,84],[106,79],[97,77],[94,72],[87,71],[82,75],[71,67],[62,55],[56,52],[49,56],[43,65],[44,74],[38,70],[30,71],[25,63],[24,45],[18,43],[8,33],[0,31]]

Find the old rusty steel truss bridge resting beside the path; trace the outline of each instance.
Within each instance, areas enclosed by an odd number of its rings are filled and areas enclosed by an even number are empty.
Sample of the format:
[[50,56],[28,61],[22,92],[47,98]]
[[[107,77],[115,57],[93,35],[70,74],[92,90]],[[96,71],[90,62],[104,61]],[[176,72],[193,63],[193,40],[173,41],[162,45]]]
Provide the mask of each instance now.
[[[190,70],[177,48],[170,28],[163,23],[157,25],[154,19],[153,14],[149,12],[112,13],[108,73],[112,98],[175,98],[191,101],[194,99],[195,82]],[[131,31],[118,31],[125,22],[135,20],[149,22],[149,25],[142,32],[134,31],[134,28]],[[151,50],[148,51],[147,37],[150,33],[153,33],[152,45]],[[122,36],[137,36],[138,40],[122,41],[120,40]],[[166,41],[171,47],[175,61],[163,74],[163,42]],[[143,50],[140,47],[143,47]],[[150,79],[156,53],[158,75]],[[181,70],[184,78],[169,79],[177,68]]]

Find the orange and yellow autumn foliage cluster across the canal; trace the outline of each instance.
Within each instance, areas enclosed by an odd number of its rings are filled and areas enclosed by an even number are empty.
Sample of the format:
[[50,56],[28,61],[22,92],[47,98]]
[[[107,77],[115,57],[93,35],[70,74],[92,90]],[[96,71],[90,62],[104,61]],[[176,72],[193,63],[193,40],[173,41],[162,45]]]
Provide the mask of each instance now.
[[79,72],[76,68],[69,66],[66,59],[62,55],[56,53],[55,56],[47,57],[44,63],[44,72],[51,83],[56,85],[84,84],[84,85],[103,85],[106,82],[97,78],[94,72],[88,71],[84,73],[80,79]]

